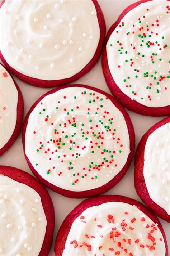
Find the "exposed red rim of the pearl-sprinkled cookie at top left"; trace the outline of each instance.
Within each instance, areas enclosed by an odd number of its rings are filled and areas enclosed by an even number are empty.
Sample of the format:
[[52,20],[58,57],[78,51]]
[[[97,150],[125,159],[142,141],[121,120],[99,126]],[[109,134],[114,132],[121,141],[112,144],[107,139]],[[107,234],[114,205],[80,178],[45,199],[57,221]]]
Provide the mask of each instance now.
[[[105,41],[106,25],[105,25],[104,15],[100,8],[100,5],[98,4],[98,1],[97,0],[92,0],[92,1],[93,1],[93,4],[95,5],[96,12],[97,12],[98,23],[99,23],[99,27],[100,27],[100,39],[99,39],[99,44],[97,46],[97,49],[95,51],[93,58],[80,72],[78,72],[74,76],[71,76],[71,77],[65,78],[65,79],[60,79],[60,80],[42,80],[42,79],[29,77],[29,76],[26,76],[26,75],[16,71],[14,68],[12,68],[6,62],[6,60],[4,59],[4,57],[0,51],[0,58],[3,61],[3,63],[5,64],[5,66],[10,70],[11,73],[13,73],[20,80],[22,80],[23,82],[25,82],[27,84],[36,86],[36,87],[51,88],[51,87],[69,84],[71,82],[74,82],[74,81],[80,79],[80,77],[82,77],[86,73],[88,73],[98,62],[101,52],[103,50],[103,45],[104,45],[104,41]],[[0,7],[3,5],[4,2],[5,2],[5,0],[3,0]]]

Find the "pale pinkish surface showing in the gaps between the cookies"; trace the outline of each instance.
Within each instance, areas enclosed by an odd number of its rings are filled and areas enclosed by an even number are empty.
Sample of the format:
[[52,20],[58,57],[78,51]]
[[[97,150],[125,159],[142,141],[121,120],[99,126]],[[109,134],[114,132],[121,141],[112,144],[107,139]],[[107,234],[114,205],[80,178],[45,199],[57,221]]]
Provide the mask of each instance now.
[[[107,31],[109,27],[117,20],[119,14],[121,14],[122,10],[125,9],[128,5],[134,3],[134,0],[98,0],[101,9],[103,10]],[[30,85],[25,84],[24,82],[20,81],[18,78],[14,77],[15,81],[17,82],[20,90],[22,91],[23,98],[24,98],[24,106],[25,106],[25,114],[28,112],[29,108],[32,104],[44,93],[49,91],[49,89],[41,89],[37,87],[33,87]],[[110,91],[105,83],[102,68],[101,68],[101,58],[96,66],[84,77],[80,80],[74,82],[74,84],[86,84],[90,86],[97,87],[101,90],[106,91],[110,94]],[[141,116],[131,111],[127,111],[129,116],[131,117],[134,130],[136,133],[136,146],[140,141],[142,135],[146,133],[146,131],[154,125],[156,122],[162,120],[164,117],[149,117],[149,116]],[[23,148],[22,148],[22,138],[21,134],[19,138],[16,140],[14,145],[6,152],[0,159],[1,165],[9,165],[20,168],[26,172],[30,171],[27,162],[24,158]],[[121,180],[119,184],[117,184],[113,189],[110,189],[107,194],[120,194],[123,196],[131,197],[136,199],[140,202],[140,198],[137,196],[136,191],[133,185],[133,172],[134,172],[134,163],[132,164],[127,171],[127,174]],[[54,207],[55,207],[55,217],[56,217],[56,225],[55,225],[55,233],[53,238],[53,245],[56,238],[57,231],[65,219],[67,214],[77,206],[83,199],[71,199],[63,197],[59,194],[56,194],[52,190],[49,190],[49,194],[52,198]],[[166,223],[166,221],[161,220],[161,224],[165,230],[167,241],[169,242],[170,247],[170,224]],[[169,248],[170,254],[170,248]],[[49,256],[54,256],[53,246],[51,248],[51,252]]]

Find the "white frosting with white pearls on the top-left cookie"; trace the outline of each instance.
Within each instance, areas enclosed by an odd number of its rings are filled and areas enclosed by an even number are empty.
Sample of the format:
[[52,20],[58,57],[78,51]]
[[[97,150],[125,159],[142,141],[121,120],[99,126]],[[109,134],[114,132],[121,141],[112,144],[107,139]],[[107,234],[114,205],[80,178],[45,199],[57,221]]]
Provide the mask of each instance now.
[[91,0],[11,0],[1,7],[1,53],[24,75],[59,80],[80,72],[100,39]]

